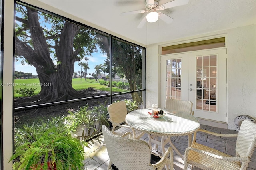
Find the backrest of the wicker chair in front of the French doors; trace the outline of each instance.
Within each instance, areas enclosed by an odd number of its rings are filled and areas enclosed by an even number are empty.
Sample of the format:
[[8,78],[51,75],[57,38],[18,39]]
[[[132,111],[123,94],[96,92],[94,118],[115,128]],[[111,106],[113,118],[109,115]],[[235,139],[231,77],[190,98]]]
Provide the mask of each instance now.
[[173,109],[173,110],[182,111],[184,113],[193,115],[192,107],[193,107],[193,103],[191,101],[176,100],[176,99],[165,100],[166,109]]

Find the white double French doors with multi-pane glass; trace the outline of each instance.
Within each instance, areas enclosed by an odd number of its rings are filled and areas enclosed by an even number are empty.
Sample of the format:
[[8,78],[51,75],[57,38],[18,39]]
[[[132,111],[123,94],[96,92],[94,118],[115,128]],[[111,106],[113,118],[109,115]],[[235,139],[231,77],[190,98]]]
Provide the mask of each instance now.
[[226,48],[161,56],[165,99],[190,100],[194,116],[226,122]]

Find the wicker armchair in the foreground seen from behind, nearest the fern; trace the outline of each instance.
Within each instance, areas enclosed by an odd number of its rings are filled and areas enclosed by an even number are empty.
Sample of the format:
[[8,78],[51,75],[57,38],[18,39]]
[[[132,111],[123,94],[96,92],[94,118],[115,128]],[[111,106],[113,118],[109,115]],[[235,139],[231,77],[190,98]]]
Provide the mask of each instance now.
[[[108,170],[114,164],[119,170],[155,170],[162,169],[169,165],[173,169],[173,153],[169,147],[161,159],[155,163],[150,163],[150,146],[138,139],[129,139],[116,136],[103,125],[102,133],[109,156]],[[169,158],[168,158],[169,157]]]

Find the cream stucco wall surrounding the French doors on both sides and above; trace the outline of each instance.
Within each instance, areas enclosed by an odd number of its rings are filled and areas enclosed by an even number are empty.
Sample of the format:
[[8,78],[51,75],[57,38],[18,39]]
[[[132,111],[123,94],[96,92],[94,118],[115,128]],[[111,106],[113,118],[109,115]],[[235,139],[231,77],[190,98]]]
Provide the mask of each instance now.
[[[228,129],[236,130],[234,119],[238,115],[249,115],[256,119],[256,24],[182,38],[165,44],[193,42],[198,38],[210,39],[220,34],[226,36],[227,47],[227,124]],[[146,102],[147,107],[150,107],[152,103],[160,103],[158,44],[148,45],[146,53]]]

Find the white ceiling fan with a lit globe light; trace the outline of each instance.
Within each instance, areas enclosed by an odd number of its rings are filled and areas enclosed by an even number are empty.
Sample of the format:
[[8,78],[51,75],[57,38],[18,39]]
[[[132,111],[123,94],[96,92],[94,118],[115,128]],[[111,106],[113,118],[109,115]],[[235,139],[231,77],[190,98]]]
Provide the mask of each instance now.
[[140,22],[140,24],[137,26],[137,28],[142,28],[146,22],[156,22],[158,18],[166,22],[167,24],[170,24],[173,21],[173,18],[170,16],[162,13],[157,12],[158,10],[165,10],[168,8],[172,8],[175,6],[181,6],[188,4],[188,0],[173,0],[171,2],[167,2],[165,4],[162,4],[159,6],[159,0],[146,0],[145,1],[145,8],[146,10],[137,10],[137,11],[130,11],[130,12],[123,12],[121,15],[127,15],[127,14],[143,14],[148,13]]

